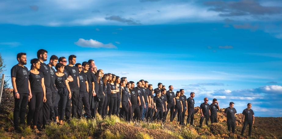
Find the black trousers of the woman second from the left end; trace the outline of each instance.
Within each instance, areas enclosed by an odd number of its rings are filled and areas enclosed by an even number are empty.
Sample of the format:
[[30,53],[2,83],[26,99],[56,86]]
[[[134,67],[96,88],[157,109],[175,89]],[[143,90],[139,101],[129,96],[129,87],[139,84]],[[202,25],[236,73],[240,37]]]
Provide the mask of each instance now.
[[28,102],[27,113],[27,125],[31,125],[33,119],[33,125],[37,126],[39,109],[43,105],[43,92],[31,92],[32,98]]

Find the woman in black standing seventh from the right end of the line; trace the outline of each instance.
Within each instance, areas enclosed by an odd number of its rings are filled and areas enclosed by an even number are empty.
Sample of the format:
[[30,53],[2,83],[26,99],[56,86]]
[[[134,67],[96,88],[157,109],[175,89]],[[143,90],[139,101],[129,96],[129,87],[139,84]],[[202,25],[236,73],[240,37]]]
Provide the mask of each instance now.
[[176,116],[176,113],[177,113],[177,123],[178,124],[180,122],[181,112],[183,112],[183,105],[182,105],[181,99],[179,98],[180,95],[181,95],[180,91],[176,91],[175,102],[174,102],[175,107],[174,107],[174,110],[173,110],[173,118],[172,118],[172,120],[173,120]]

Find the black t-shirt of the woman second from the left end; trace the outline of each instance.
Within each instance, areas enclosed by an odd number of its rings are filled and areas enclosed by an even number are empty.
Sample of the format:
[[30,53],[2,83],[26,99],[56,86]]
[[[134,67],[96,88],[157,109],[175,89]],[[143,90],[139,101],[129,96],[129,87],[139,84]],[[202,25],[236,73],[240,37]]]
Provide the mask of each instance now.
[[31,92],[43,92],[41,81],[43,78],[43,73],[39,72],[38,74],[34,74],[29,72],[29,82]]

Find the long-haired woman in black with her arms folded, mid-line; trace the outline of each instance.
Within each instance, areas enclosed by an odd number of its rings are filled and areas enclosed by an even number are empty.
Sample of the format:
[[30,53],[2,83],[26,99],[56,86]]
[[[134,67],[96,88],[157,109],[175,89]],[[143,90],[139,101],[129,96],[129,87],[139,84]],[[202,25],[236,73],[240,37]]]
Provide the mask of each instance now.
[[108,115],[114,115],[117,111],[117,92],[119,92],[119,89],[117,85],[115,84],[116,76],[112,74],[113,78],[110,80],[110,105],[109,105],[109,113]]

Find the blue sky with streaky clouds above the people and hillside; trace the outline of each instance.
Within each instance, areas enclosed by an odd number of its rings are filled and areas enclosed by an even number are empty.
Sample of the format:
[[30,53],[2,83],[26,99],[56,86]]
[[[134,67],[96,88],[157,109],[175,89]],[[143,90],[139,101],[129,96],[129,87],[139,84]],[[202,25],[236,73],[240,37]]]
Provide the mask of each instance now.
[[6,75],[18,52],[32,59],[43,48],[154,88],[193,91],[196,105],[218,98],[222,108],[252,103],[255,116],[282,116],[278,0],[3,0],[0,30]]

